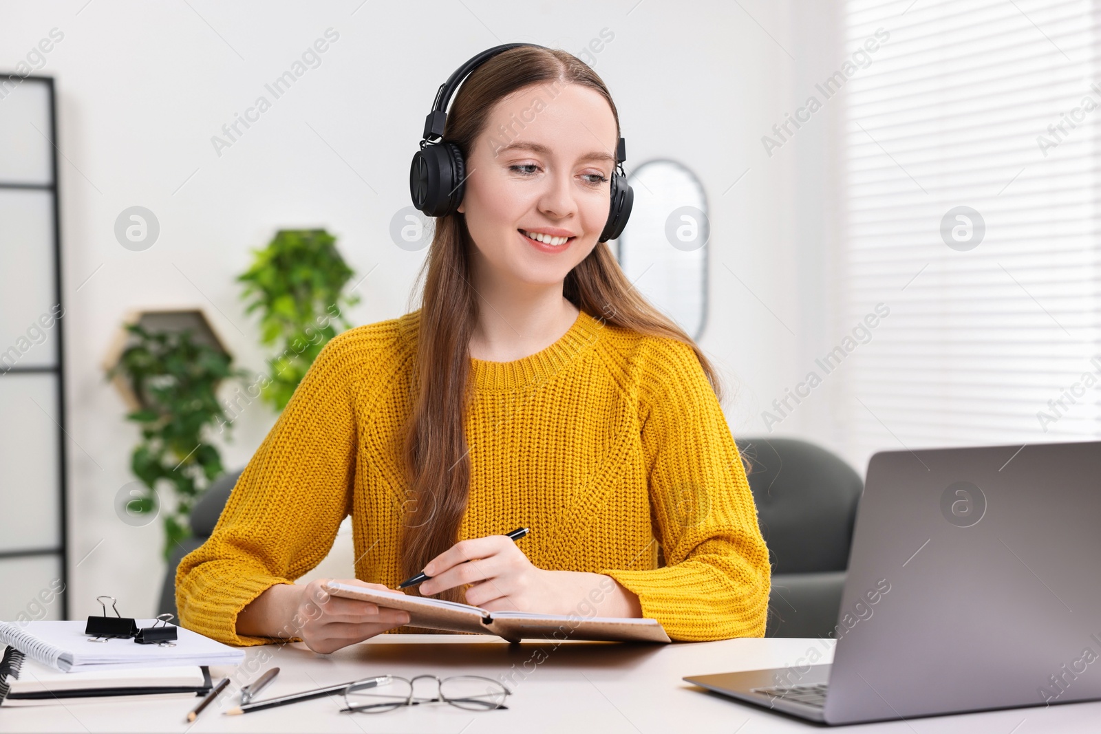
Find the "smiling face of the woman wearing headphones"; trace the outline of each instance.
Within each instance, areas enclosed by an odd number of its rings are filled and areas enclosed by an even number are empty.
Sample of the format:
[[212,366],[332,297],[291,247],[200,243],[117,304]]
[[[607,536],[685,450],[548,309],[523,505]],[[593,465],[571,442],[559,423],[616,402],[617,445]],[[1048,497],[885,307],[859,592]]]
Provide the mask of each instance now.
[[[478,280],[562,283],[608,220],[617,142],[608,101],[588,87],[532,85],[498,101],[466,157],[459,206]],[[543,244],[524,232],[558,239]]]

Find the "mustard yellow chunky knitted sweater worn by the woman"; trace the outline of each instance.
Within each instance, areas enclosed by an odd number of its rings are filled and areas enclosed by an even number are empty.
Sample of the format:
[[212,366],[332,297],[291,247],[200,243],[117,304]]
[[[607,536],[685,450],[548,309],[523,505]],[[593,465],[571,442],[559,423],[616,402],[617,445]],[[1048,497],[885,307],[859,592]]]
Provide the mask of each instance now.
[[[356,578],[402,581],[401,440],[418,317],[325,346],[210,538],[181,561],[183,626],[231,645],[274,642],[239,636],[238,612],[317,566],[349,514]],[[530,527],[520,547],[532,563],[612,577],[673,639],[764,635],[768,552],[738,448],[689,347],[582,310],[535,354],[470,358],[469,379],[459,539]]]

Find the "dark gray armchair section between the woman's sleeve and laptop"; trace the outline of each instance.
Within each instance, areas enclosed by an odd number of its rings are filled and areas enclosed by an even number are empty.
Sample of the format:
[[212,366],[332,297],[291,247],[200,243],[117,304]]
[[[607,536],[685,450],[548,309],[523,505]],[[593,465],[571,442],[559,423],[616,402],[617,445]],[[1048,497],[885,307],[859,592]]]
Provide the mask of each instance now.
[[829,637],[841,609],[864,483],[826,449],[792,438],[737,441],[772,561],[766,637]]

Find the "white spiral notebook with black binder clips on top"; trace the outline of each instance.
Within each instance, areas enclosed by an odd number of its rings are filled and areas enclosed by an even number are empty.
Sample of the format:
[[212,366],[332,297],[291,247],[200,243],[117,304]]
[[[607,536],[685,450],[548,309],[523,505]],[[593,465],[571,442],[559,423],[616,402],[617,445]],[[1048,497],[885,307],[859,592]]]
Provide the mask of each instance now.
[[[156,620],[138,620],[151,627]],[[238,665],[244,650],[224,645],[184,627],[176,628],[175,647],[139,645],[130,638],[91,642],[84,634],[86,621],[42,620],[0,622],[0,644],[11,645],[28,658],[65,672],[161,666]]]

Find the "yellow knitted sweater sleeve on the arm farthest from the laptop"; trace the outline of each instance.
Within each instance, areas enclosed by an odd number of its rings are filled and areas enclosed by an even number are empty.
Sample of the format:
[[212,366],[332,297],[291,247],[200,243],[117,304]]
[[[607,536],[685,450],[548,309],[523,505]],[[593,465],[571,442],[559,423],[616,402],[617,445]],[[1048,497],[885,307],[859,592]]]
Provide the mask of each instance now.
[[[229,645],[237,615],[276,583],[293,583],[333,547],[350,511],[356,453],[355,350],[348,332],[321,349],[237,480],[210,537],[176,569],[179,624]],[[292,635],[287,620],[286,637]]]

